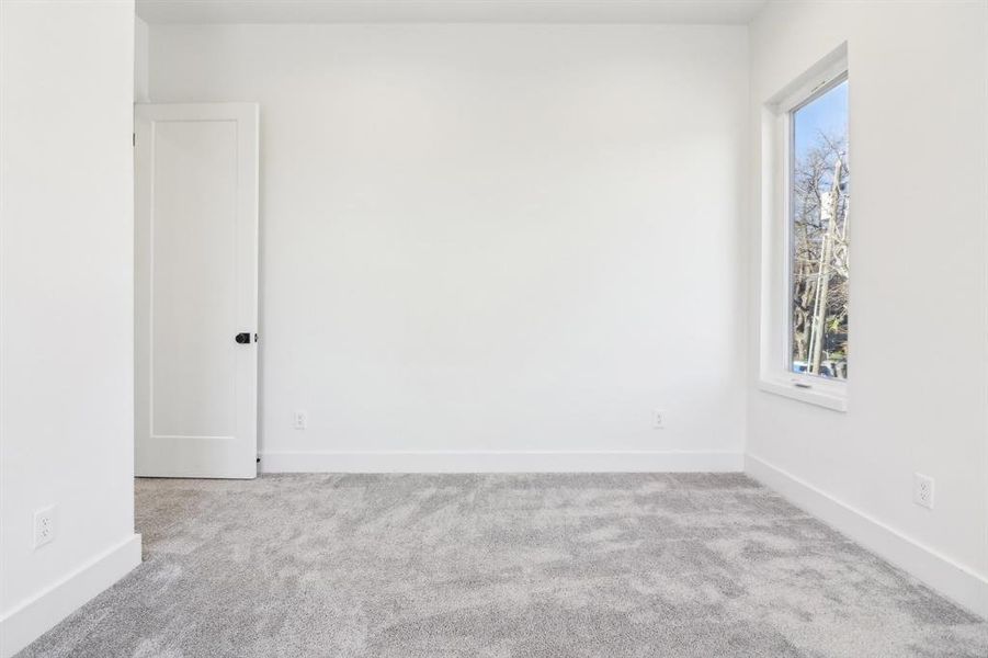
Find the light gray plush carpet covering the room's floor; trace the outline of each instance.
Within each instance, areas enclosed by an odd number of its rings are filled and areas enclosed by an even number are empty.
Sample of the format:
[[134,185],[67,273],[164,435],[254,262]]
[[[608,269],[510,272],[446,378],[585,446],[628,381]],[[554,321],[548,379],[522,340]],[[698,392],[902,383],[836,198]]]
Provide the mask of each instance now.
[[138,480],[146,561],[21,656],[988,656],[741,475]]

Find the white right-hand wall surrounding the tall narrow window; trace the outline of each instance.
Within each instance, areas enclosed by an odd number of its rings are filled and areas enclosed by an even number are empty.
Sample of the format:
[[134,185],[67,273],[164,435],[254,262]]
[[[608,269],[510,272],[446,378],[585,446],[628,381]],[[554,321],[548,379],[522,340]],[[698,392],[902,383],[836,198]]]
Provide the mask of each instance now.
[[[750,26],[752,290],[761,103],[847,41],[849,410],[750,386],[749,470],[988,614],[984,2],[770,3]],[[758,318],[758,299],[751,317]],[[757,339],[750,363],[757,375]],[[935,478],[935,509],[911,501]]]

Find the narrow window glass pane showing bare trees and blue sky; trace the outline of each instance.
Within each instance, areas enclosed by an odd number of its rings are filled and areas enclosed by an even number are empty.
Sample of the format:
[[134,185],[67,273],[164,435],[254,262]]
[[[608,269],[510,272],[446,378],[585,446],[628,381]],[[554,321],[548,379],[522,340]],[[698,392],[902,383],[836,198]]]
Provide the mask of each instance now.
[[788,113],[787,360],[793,373],[848,377],[848,80]]

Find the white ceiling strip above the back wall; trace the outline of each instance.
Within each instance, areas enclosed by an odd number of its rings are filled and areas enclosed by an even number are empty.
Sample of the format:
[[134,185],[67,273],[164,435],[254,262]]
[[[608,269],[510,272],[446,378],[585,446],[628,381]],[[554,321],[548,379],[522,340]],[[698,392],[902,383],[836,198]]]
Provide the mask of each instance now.
[[728,23],[766,0],[137,0],[148,23]]

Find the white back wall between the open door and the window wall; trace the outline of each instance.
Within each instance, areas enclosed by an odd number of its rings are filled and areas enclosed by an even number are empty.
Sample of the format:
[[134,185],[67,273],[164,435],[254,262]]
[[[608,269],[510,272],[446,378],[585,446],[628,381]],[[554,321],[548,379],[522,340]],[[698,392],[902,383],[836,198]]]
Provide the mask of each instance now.
[[151,25],[150,78],[261,104],[265,468],[740,468],[743,27]]

